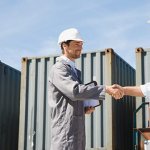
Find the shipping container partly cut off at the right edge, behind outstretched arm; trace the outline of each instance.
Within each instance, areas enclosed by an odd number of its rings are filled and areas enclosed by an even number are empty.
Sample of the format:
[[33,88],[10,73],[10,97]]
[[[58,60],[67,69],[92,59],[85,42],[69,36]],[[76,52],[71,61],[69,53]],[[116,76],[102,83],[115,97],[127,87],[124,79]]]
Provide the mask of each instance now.
[[[136,85],[150,82],[150,48],[136,48]],[[136,98],[136,107],[139,107],[142,102],[150,101],[145,98]],[[137,114],[137,128],[148,127],[149,121],[148,107],[143,107]]]

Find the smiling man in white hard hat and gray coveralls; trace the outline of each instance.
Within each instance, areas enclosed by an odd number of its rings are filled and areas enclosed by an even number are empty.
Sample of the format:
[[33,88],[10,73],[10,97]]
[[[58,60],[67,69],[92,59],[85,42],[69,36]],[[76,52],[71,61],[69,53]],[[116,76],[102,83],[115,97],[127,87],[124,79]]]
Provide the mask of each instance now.
[[81,72],[75,68],[75,59],[82,51],[83,39],[75,28],[64,30],[58,43],[62,56],[58,57],[49,75],[48,99],[51,108],[51,150],[85,150],[85,113],[87,99],[104,100],[105,93],[119,99],[123,96],[113,86],[82,84]]

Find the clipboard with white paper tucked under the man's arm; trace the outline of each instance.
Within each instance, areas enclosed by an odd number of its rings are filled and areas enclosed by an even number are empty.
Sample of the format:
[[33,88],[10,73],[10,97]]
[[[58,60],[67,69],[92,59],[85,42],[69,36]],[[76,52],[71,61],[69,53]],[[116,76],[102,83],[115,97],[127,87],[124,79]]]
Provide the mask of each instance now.
[[[96,81],[91,81],[85,85],[90,85],[90,86],[96,86],[97,82]],[[100,100],[95,100],[95,99],[89,99],[84,101],[84,107],[97,107],[102,104],[102,101]]]

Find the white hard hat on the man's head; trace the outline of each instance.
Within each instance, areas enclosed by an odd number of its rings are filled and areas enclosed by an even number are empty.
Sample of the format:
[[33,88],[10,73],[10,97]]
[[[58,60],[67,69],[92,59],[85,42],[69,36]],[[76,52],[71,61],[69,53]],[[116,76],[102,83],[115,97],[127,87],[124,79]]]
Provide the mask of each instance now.
[[75,28],[66,29],[63,32],[61,32],[58,38],[58,44],[61,45],[62,42],[65,42],[68,40],[83,41],[83,39],[80,36],[79,31]]

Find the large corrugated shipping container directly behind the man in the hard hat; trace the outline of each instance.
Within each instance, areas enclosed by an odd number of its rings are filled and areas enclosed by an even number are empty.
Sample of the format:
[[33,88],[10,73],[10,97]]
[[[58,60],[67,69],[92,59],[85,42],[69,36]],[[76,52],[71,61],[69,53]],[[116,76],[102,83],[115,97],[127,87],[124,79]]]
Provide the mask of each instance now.
[[[20,99],[19,150],[50,149],[48,74],[57,56],[23,58]],[[113,49],[83,53],[76,60],[83,83],[135,85],[135,69]],[[132,149],[134,97],[106,100],[86,115],[86,149]]]

